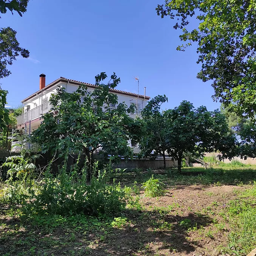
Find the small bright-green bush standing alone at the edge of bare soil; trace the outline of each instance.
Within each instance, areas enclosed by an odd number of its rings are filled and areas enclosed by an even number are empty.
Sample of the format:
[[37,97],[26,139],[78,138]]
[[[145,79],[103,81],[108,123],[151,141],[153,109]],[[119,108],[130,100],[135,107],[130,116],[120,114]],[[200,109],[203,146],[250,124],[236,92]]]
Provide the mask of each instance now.
[[142,183],[141,188],[145,190],[145,195],[149,197],[158,197],[164,195],[165,190],[163,189],[164,184],[159,182],[159,179],[152,177],[146,182]]

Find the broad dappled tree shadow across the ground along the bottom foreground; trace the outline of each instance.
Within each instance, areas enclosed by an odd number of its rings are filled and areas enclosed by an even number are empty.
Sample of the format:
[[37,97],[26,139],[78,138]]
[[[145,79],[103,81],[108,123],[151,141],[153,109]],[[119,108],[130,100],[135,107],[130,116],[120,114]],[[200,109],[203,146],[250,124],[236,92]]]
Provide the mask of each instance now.
[[50,221],[42,222],[42,226],[29,222],[23,225],[16,218],[4,217],[0,219],[0,255],[189,254],[200,245],[189,241],[188,228],[207,227],[213,222],[208,216],[194,213],[183,217],[147,210],[127,210],[123,218],[126,221],[119,227],[103,220],[88,228],[83,222],[65,223],[65,219],[53,227]]

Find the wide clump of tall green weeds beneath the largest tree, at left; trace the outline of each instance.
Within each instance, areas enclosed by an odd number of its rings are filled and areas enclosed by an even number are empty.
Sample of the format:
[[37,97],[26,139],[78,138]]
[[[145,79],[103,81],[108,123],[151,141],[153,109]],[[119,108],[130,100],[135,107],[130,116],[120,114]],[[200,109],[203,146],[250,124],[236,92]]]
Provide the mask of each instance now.
[[54,177],[48,169],[37,180],[12,182],[4,191],[5,202],[22,205],[26,213],[115,214],[126,206],[127,195],[120,184],[108,185],[106,169],[94,169],[90,183],[87,170],[68,173],[64,167]]

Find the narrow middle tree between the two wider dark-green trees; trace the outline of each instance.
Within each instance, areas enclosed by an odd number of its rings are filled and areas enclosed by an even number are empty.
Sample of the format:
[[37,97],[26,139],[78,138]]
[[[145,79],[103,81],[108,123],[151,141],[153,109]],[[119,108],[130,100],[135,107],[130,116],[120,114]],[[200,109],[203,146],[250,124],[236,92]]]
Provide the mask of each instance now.
[[168,101],[164,95],[158,95],[151,99],[142,111],[144,120],[144,132],[140,141],[141,157],[154,154],[163,156],[164,168],[166,168],[165,154],[168,148],[166,143],[167,119],[165,112],[161,111],[161,105]]

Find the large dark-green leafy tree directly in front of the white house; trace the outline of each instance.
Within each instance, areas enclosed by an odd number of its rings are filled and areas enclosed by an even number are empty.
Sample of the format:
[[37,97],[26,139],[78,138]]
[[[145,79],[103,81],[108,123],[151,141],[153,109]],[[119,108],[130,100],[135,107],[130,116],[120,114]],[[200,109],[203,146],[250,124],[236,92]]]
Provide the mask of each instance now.
[[68,149],[82,151],[90,166],[96,149],[105,157],[132,158],[128,140],[138,141],[142,124],[127,115],[134,112],[134,105],[128,108],[124,103],[118,104],[117,95],[109,92],[120,78],[114,73],[107,84],[102,84],[106,78],[106,73],[97,75],[92,91],[81,85],[73,93],[58,88],[57,94],[51,96],[54,112],[43,115],[43,123],[32,135],[32,142],[42,145],[43,153],[57,151],[62,156]]

